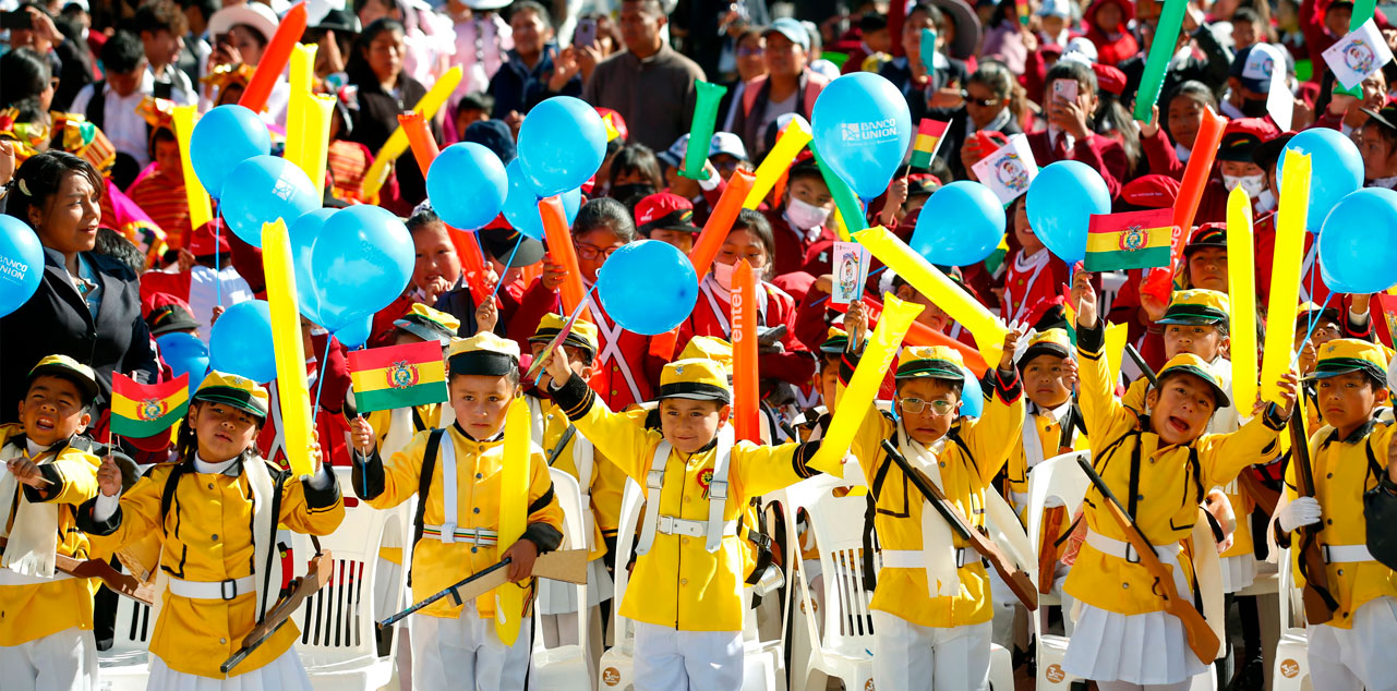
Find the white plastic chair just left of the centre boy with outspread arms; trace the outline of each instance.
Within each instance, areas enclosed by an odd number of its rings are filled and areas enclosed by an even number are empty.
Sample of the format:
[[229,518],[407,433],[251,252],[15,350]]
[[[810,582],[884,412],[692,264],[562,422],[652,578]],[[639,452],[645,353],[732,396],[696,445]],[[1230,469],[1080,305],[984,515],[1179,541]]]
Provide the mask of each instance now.
[[[557,497],[563,510],[563,546],[570,550],[585,550],[587,535],[584,530],[587,523],[583,521],[583,511],[590,511],[590,508],[583,508],[583,490],[577,484],[577,479],[564,470],[550,468],[549,475],[553,477],[553,496]],[[591,621],[587,611],[587,585],[577,586],[577,602],[581,610],[577,617],[577,639],[585,642]],[[541,627],[535,610],[534,670],[529,673],[529,684],[534,688],[550,691],[594,688],[592,680],[597,678],[597,674],[591,669],[587,649],[583,645],[545,648]]]

